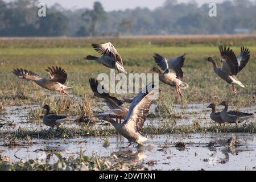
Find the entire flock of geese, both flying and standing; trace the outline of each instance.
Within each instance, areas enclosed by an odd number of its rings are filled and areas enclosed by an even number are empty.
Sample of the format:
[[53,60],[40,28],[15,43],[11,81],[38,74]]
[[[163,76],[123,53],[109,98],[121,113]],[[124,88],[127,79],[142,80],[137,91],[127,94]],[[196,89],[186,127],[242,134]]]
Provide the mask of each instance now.
[[[117,52],[117,49],[113,46],[112,43],[105,44],[92,44],[92,47],[99,53],[101,57],[88,55],[84,59],[86,60],[95,60],[97,63],[105,65],[105,67],[116,69],[118,73],[127,73],[125,68],[123,68],[122,57]],[[229,47],[219,47],[221,53],[221,62],[222,67],[218,67],[216,61],[212,57],[208,57],[207,61],[212,62],[214,72],[223,80],[232,84],[232,89],[235,94],[237,94],[236,86],[239,85],[242,88],[245,86],[241,81],[238,80],[236,75],[246,66],[250,59],[250,51],[245,47],[241,47],[240,56],[236,56],[235,53]],[[188,84],[183,82],[183,71],[182,67],[185,61],[185,55],[181,55],[174,59],[167,59],[158,53],[155,53],[154,59],[156,64],[162,69],[154,67],[150,69],[150,72],[155,72],[159,74],[159,80],[164,84],[170,85],[176,88],[176,92],[179,97],[182,97],[180,89],[187,89]],[[67,80],[67,73],[61,67],[52,67],[47,68],[46,71],[49,73],[49,77],[40,77],[34,72],[27,71],[26,69],[14,69],[13,73],[19,78],[25,80],[32,80],[42,88],[60,92],[61,94],[68,95],[65,92],[66,89],[71,89],[71,87],[65,86],[65,81]],[[108,111],[104,111],[96,115],[100,119],[104,119],[112,123],[115,129],[127,138],[130,142],[141,144],[147,140],[141,134],[141,129],[143,127],[144,121],[146,120],[148,110],[154,100],[156,100],[155,91],[158,89],[155,88],[154,84],[148,84],[145,88],[141,90],[130,100],[130,107],[122,106],[124,101],[118,100],[115,97],[109,95],[108,92],[99,93],[98,86],[104,89],[102,85],[98,84],[98,81],[94,78],[89,79],[90,87],[94,93],[94,96],[103,98],[106,104],[109,106]],[[220,112],[216,112],[216,106],[210,104],[208,107],[212,109],[210,118],[217,122],[222,123],[238,123],[254,117],[253,113],[242,113],[240,111],[228,111],[228,102],[222,101],[222,106],[225,108]],[[42,107],[46,109],[46,114],[43,117],[43,123],[47,126],[60,126],[66,121],[66,117],[63,115],[49,114],[49,106],[44,105]],[[123,121],[123,122],[122,122]]]

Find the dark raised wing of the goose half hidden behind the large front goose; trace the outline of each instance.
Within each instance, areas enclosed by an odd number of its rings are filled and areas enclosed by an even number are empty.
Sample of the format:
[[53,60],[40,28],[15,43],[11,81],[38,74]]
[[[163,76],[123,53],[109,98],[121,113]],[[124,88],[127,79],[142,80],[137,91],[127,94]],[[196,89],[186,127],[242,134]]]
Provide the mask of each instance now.
[[[108,90],[105,90],[104,86],[98,83],[98,80],[95,80],[94,78],[89,78],[90,82],[90,88],[92,89],[94,96],[104,98],[110,106],[110,109],[117,109],[117,106],[121,106],[123,102],[121,100],[118,100],[116,97],[112,97],[109,95]],[[98,88],[101,88],[104,90],[103,93],[98,92]]]

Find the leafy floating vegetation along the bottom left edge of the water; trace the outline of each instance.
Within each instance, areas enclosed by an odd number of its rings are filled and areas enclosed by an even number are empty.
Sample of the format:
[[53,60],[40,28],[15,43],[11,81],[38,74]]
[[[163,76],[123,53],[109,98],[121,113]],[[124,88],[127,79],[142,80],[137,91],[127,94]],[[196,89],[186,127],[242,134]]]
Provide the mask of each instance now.
[[91,157],[85,156],[80,152],[79,157],[69,156],[64,158],[60,153],[54,154],[58,160],[54,164],[43,163],[40,159],[20,160],[10,162],[9,158],[0,155],[0,171],[121,171],[121,170],[146,170],[135,165],[127,164],[113,156],[109,158],[99,157],[97,154]]

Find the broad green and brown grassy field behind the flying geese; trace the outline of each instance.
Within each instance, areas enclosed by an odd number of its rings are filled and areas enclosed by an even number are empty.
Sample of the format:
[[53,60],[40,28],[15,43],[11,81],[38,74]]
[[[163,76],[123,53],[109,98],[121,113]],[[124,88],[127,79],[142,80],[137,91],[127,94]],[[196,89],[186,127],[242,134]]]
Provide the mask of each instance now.
[[[255,104],[256,80],[256,38],[232,37],[216,38],[130,38],[130,39],[3,39],[0,43],[0,108],[1,105],[39,104],[42,105],[50,96],[32,82],[18,79],[11,71],[14,68],[26,68],[47,76],[45,68],[52,65],[63,67],[68,73],[68,86],[71,94],[78,96],[92,95],[89,89],[89,77],[98,73],[110,73],[109,69],[83,60],[86,55],[96,55],[90,44],[111,41],[118,49],[128,73],[147,73],[156,64],[152,56],[160,53],[170,59],[188,52],[185,60],[183,81],[189,89],[182,90],[184,97],[177,100],[174,88],[160,83],[163,91],[158,103],[175,102],[186,105],[191,102],[218,102],[227,100],[232,105],[245,106]],[[218,45],[232,46],[234,52],[240,53],[240,46],[247,46],[251,59],[237,76],[246,88],[238,88],[237,96],[231,85],[218,78],[213,72],[212,64],[205,61],[208,56],[219,60]],[[220,63],[219,63],[220,64]],[[128,94],[126,97],[130,96]],[[119,96],[122,97],[122,96]],[[131,97],[131,96],[130,96]],[[168,103],[167,103],[168,104]]]

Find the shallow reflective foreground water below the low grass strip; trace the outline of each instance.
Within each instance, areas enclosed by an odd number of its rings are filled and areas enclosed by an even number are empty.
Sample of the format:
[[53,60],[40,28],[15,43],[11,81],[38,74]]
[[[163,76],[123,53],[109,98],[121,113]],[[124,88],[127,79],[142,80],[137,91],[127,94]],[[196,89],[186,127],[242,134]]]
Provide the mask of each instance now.
[[[229,147],[226,142],[236,137],[238,146]],[[256,134],[165,134],[149,137],[144,146],[135,144],[129,148],[126,139],[114,136],[109,138],[109,147],[103,147],[103,138],[77,138],[57,140],[33,140],[31,146],[8,147],[1,143],[0,152],[10,156],[11,161],[39,158],[49,163],[57,158],[49,152],[60,152],[63,156],[80,154],[91,156],[117,155],[117,158],[130,164],[137,164],[148,169],[160,170],[253,170],[256,166]],[[175,147],[175,143],[184,142],[185,148]],[[214,147],[209,147],[215,142]]]

